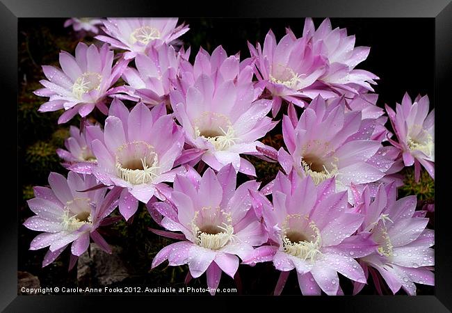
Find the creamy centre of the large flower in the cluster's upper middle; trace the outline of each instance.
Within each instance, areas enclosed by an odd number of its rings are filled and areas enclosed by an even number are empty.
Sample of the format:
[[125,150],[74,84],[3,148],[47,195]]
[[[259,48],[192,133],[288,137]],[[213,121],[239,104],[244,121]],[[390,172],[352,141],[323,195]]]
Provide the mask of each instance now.
[[223,114],[204,112],[195,125],[195,136],[209,141],[217,151],[228,150],[239,139],[231,121]]

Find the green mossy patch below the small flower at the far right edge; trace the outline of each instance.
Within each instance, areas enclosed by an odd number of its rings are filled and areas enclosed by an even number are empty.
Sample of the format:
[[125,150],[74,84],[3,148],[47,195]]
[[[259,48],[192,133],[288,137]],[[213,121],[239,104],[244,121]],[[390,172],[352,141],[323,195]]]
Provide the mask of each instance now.
[[421,170],[419,182],[414,180],[414,168],[405,168],[404,184],[399,188],[399,197],[416,195],[417,200],[432,202],[435,200],[435,181],[426,170]]

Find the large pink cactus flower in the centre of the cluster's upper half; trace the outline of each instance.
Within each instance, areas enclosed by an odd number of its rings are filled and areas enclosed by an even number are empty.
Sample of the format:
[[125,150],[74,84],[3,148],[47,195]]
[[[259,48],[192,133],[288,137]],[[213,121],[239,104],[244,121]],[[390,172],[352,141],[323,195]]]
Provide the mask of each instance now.
[[252,68],[241,70],[239,58],[227,58],[223,49],[216,49],[207,58],[197,54],[186,85],[170,93],[170,102],[178,122],[184,128],[186,143],[200,151],[202,159],[214,170],[232,163],[248,175],[256,175],[252,164],[240,154],[257,154],[265,145],[259,138],[275,127],[266,115],[271,101],[256,100]]

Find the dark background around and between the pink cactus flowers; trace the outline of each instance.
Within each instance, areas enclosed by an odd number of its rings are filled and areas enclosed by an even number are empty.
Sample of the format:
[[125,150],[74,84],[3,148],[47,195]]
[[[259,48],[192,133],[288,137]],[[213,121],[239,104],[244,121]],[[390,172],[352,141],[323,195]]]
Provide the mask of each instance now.
[[[33,197],[32,186],[47,184],[50,171],[65,173],[55,154],[56,147],[62,147],[67,136],[67,125],[58,127],[56,120],[60,113],[37,113],[45,98],[35,97],[31,91],[40,88],[38,81],[45,79],[40,65],[57,65],[60,49],[74,53],[80,40],[90,42],[92,38],[79,38],[72,27],[63,28],[65,19],[19,19],[19,258],[18,270],[27,271],[40,278],[42,286],[76,286],[76,269],[67,273],[69,252],[63,254],[46,268],[40,268],[45,249],[29,251],[29,243],[38,232],[27,230],[22,223],[31,216],[25,200]],[[211,52],[223,45],[228,54],[241,51],[241,58],[249,56],[247,40],[261,44],[268,29],[272,29],[277,40],[290,26],[299,37],[302,35],[304,19],[184,19],[191,30],[181,37],[184,47],[191,46],[191,61],[202,45]],[[322,19],[314,19],[318,26]],[[418,93],[428,94],[433,106],[434,81],[434,19],[427,18],[334,18],[333,28],[346,27],[349,35],[356,36],[355,46],[369,46],[369,58],[357,68],[369,70],[380,77],[376,93],[380,95],[378,105],[394,106],[401,102],[407,91],[412,97]],[[74,119],[72,125],[78,125]],[[152,225],[149,214],[143,209],[137,213],[133,223],[120,222],[106,227],[108,243],[124,249],[126,265],[134,275],[123,282],[124,286],[172,286],[183,285],[187,266],[166,268],[165,265],[150,270],[152,258],[158,250],[170,243],[147,231]],[[240,266],[244,294],[271,294],[278,273],[272,264],[258,264],[255,268]],[[205,278],[191,282],[195,287],[205,286]],[[234,287],[234,281],[223,274],[220,287]],[[350,282],[341,280],[346,294],[350,294]],[[374,294],[371,287],[365,287],[364,294]],[[401,291],[403,294],[403,291]],[[300,294],[296,275],[289,277],[283,294]],[[418,294],[433,294],[433,287],[421,287]]]

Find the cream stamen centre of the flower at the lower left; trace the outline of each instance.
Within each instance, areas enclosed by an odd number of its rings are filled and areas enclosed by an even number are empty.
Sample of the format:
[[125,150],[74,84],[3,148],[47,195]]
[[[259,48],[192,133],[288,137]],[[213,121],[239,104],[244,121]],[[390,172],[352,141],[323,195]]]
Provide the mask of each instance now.
[[67,201],[64,214],[60,217],[64,230],[74,232],[83,225],[92,224],[91,207],[94,205],[88,198]]

